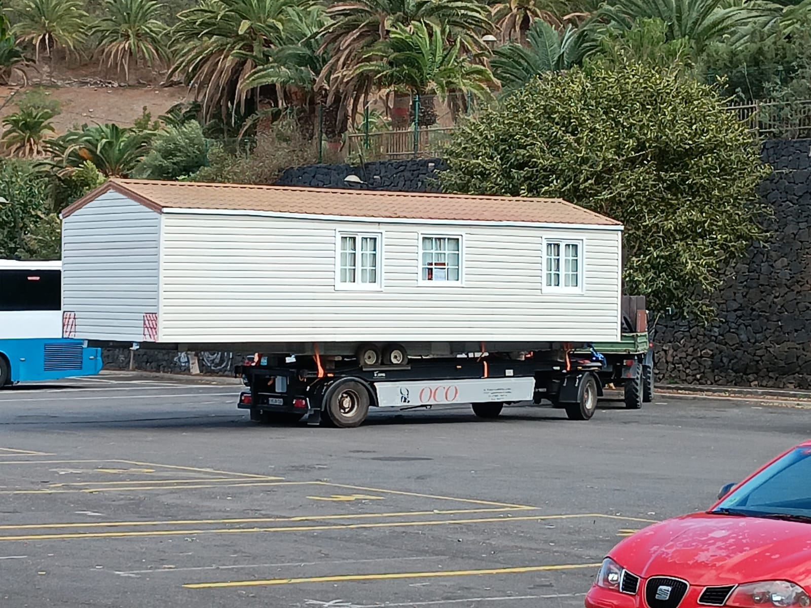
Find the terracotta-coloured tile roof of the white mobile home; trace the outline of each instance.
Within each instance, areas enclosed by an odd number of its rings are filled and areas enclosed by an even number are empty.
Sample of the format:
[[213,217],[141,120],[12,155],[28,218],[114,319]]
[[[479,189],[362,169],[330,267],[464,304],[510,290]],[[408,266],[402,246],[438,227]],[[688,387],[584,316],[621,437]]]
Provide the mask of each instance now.
[[127,195],[157,212],[165,208],[217,209],[313,216],[371,217],[381,220],[408,218],[620,225],[618,221],[562,199],[335,190],[298,186],[152,182],[135,179],[110,180],[66,208],[62,216],[71,215],[76,209],[109,190]]

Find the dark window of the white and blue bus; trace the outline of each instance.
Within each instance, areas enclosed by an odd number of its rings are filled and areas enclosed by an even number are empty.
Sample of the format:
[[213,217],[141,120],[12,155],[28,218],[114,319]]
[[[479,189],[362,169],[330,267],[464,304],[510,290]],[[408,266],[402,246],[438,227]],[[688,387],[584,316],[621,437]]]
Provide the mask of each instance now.
[[0,310],[61,310],[58,270],[0,270]]

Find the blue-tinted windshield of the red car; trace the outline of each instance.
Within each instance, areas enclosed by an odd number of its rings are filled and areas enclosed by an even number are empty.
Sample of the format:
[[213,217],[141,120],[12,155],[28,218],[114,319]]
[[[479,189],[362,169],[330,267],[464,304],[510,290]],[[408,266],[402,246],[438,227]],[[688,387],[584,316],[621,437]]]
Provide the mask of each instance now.
[[811,447],[797,447],[710,511],[811,522]]

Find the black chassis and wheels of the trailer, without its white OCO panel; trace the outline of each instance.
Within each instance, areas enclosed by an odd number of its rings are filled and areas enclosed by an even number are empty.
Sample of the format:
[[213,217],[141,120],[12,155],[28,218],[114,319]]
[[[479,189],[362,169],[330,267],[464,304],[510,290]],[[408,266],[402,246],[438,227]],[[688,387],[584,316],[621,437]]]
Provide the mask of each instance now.
[[[237,366],[248,387],[238,408],[249,409],[255,422],[298,422],[352,427],[360,425],[368,409],[378,405],[375,386],[405,381],[453,381],[476,379],[534,379],[535,405],[542,400],[565,409],[571,420],[589,420],[603,395],[599,378],[602,363],[586,358],[560,361],[549,352],[526,353],[513,358],[507,353],[463,358],[412,358],[403,365],[363,366],[358,361],[315,357],[259,356],[252,365]],[[326,368],[326,369],[325,369]],[[473,404],[479,417],[497,417],[501,402]],[[416,409],[431,405],[410,405]]]

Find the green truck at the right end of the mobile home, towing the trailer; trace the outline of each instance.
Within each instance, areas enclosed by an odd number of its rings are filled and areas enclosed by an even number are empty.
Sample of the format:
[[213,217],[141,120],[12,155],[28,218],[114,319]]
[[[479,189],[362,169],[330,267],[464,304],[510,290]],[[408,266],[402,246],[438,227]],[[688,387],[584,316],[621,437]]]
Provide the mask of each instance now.
[[640,409],[654,394],[654,344],[644,296],[623,296],[622,323],[619,342],[594,342],[590,351],[578,350],[577,355],[596,354],[603,362],[598,372],[603,385],[622,387],[625,407]]

